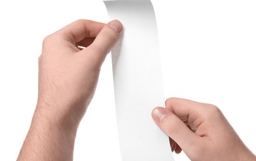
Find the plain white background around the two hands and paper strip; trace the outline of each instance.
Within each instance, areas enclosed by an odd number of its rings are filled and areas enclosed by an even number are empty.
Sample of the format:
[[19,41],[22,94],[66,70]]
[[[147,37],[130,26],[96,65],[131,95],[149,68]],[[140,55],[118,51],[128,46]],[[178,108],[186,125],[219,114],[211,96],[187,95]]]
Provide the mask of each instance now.
[[[256,153],[255,1],[157,1],[165,97],[217,105]],[[77,19],[108,22],[102,1],[0,2],[0,160],[16,160],[37,102],[45,36]],[[120,160],[111,59],[78,129],[74,160]],[[188,160],[174,154],[176,160]]]

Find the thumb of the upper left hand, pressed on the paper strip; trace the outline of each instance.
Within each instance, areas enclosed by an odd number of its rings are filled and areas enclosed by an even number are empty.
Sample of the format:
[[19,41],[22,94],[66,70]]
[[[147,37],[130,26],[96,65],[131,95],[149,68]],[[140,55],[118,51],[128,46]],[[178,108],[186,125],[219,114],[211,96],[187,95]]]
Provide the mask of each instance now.
[[86,53],[83,55],[87,60],[90,60],[90,64],[93,63],[91,64],[93,69],[100,68],[107,54],[120,37],[122,29],[123,25],[119,20],[112,20],[100,30],[93,43],[82,50]]

